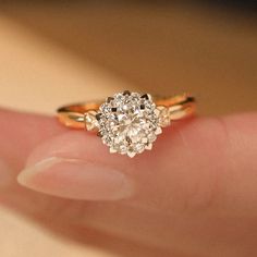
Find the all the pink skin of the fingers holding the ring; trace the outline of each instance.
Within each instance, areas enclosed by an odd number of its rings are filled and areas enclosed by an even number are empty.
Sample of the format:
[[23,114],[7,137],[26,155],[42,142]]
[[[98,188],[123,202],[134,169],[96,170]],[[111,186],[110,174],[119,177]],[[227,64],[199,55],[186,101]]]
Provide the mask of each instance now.
[[54,231],[138,256],[257,255],[256,113],[173,124],[134,159],[52,118],[0,111],[0,203]]

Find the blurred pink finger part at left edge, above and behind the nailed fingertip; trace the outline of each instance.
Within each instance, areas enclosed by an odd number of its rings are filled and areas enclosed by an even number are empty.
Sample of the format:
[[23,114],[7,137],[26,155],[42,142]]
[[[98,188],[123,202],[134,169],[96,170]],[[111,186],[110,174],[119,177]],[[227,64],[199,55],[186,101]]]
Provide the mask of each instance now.
[[21,169],[33,148],[64,128],[52,118],[0,109],[0,132],[2,166]]

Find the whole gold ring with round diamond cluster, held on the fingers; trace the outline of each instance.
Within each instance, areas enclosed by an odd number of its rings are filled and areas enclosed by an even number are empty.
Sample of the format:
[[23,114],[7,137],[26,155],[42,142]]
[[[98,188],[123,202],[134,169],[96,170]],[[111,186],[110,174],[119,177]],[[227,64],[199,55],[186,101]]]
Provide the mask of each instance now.
[[152,148],[162,127],[194,111],[195,99],[187,95],[155,98],[125,90],[106,101],[62,107],[58,118],[65,126],[97,132],[110,152],[134,157]]

